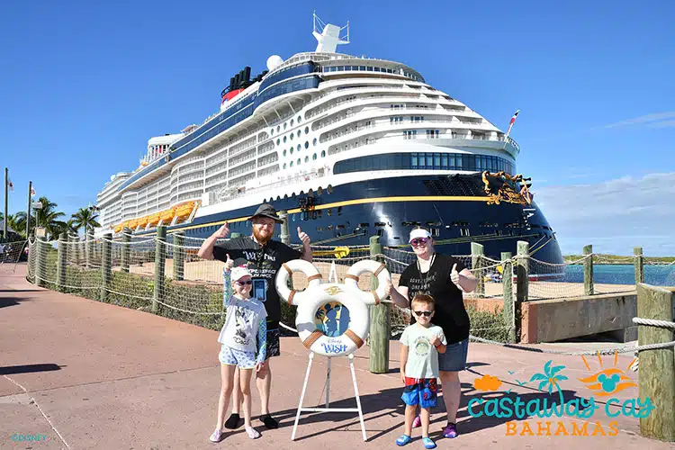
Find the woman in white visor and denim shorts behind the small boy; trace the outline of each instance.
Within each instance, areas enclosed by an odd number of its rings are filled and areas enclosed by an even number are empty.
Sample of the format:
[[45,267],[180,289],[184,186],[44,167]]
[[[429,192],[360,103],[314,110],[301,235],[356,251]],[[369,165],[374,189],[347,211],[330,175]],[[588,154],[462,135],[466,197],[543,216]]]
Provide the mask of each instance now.
[[[456,416],[462,394],[459,373],[466,366],[470,329],[462,293],[472,292],[478,282],[461,261],[436,253],[427,229],[410,231],[409,242],[417,261],[403,271],[398,288],[394,288],[391,281],[387,283],[387,292],[394,304],[401,308],[410,308],[410,299],[418,294],[428,294],[436,299],[432,323],[443,329],[447,339],[446,353],[438,356],[439,378],[447,411],[443,436],[457,437]],[[413,427],[419,425],[418,416]]]

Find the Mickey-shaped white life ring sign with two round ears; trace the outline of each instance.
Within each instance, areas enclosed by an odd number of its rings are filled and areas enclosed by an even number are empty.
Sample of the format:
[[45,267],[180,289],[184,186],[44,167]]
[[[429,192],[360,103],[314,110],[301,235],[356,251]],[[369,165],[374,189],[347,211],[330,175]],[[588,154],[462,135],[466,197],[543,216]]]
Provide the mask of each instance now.
[[[323,356],[343,356],[364,345],[370,328],[367,305],[383,300],[384,282],[390,277],[383,265],[360,261],[350,267],[345,284],[322,284],[319,270],[302,259],[289,261],[283,267],[285,270],[276,275],[276,290],[284,301],[298,307],[295,326],[305,347]],[[309,285],[302,292],[287,286],[295,271],[307,275]],[[364,272],[377,276],[377,291],[366,293],[358,288],[358,276]]]

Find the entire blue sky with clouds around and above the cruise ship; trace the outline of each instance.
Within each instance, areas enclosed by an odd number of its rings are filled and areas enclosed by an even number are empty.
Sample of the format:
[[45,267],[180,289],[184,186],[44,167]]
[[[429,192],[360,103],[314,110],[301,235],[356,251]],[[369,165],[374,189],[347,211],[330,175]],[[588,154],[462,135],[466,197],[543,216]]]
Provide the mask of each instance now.
[[675,2],[117,2],[0,5],[0,166],[69,215],[148,139],[201,123],[245,66],[338,51],[413,67],[507,130],[563,253],[675,255]]

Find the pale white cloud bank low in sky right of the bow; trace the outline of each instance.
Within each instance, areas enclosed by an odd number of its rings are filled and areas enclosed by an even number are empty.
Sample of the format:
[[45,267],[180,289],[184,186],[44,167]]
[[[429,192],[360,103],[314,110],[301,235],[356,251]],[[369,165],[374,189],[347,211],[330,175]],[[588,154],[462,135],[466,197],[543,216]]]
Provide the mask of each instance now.
[[675,172],[534,192],[565,254],[593,244],[599,253],[675,256]]

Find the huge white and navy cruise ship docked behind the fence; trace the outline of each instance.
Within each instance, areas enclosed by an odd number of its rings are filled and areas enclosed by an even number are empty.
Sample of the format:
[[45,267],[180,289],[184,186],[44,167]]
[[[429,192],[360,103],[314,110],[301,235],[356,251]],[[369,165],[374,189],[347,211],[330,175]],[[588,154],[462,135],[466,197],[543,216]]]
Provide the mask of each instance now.
[[410,229],[422,225],[446,254],[468,255],[478,242],[500,258],[527,240],[536,259],[562,263],[529,178],[516,175],[518,143],[414,68],[338,53],[348,26],[315,15],[315,51],[273,55],[255,76],[245,67],[220,111],[149,139],[138,168],[98,194],[97,235],[165,225],[206,238],[224,220],[249,233],[247,218],[267,202],[288,212],[296,244],[301,227],[316,245],[378,235],[410,248]]

